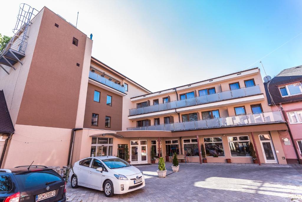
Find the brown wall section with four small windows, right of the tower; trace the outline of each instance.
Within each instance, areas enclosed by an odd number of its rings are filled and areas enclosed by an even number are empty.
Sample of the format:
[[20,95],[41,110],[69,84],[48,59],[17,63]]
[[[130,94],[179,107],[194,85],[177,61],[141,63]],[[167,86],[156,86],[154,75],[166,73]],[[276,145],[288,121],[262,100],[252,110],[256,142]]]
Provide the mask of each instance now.
[[[101,92],[100,102],[93,101],[94,91]],[[112,96],[112,106],[106,104],[107,95]],[[123,97],[98,86],[88,84],[84,128],[120,131],[122,129]],[[92,113],[99,114],[98,126],[91,125]],[[105,116],[111,117],[111,127],[105,127]]]

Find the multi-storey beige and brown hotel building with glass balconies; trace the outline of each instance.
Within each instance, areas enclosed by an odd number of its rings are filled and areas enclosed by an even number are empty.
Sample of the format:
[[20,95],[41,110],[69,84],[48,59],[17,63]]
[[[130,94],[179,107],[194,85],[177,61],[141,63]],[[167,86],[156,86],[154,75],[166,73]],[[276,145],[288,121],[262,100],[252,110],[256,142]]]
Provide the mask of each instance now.
[[90,36],[44,7],[1,53],[15,130],[2,167],[124,158],[126,145],[132,164],[150,163],[151,150],[200,162],[201,144],[208,162],[252,163],[254,144],[261,163],[287,163],[279,136],[288,128],[268,105],[259,68],[152,93],[92,57]]

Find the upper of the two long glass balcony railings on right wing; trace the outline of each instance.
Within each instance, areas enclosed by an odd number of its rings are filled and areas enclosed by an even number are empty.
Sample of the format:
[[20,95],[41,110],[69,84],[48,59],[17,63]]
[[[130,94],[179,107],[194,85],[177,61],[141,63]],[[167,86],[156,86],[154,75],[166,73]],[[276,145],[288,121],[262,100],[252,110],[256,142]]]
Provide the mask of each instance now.
[[241,98],[241,97],[256,95],[260,93],[261,91],[259,85],[249,86],[249,87],[238,88],[229,91],[222,91],[214,94],[202,95],[193,98],[187,98],[187,99],[176,100],[176,101],[171,101],[161,104],[150,105],[142,108],[134,108],[129,110],[129,115],[133,116],[137,114],[145,114],[149,112],[163,111],[167,109],[175,109],[175,108],[192,106],[197,104],[223,101],[232,98]]

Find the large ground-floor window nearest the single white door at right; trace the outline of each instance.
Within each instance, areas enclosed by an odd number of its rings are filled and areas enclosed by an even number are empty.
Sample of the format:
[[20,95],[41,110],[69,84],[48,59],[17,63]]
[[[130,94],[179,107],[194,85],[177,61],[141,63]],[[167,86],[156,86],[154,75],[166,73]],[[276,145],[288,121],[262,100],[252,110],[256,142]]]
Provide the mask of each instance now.
[[232,157],[251,157],[249,136],[228,137]]

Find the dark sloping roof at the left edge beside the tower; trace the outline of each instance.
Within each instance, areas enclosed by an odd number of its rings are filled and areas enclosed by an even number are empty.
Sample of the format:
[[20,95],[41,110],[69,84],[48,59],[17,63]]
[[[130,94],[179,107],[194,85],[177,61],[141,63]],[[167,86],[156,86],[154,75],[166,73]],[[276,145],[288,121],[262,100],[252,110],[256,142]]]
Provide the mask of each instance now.
[[0,91],[0,133],[13,133],[14,125],[11,121],[3,90]]

